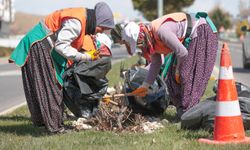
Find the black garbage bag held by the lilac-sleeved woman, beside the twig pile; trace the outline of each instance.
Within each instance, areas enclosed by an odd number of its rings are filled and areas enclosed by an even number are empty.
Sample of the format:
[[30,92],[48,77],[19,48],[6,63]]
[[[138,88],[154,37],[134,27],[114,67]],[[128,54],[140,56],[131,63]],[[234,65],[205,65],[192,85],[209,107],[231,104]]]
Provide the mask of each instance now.
[[[125,92],[130,93],[142,85],[148,70],[140,67],[130,68],[125,78]],[[149,88],[150,92],[145,97],[128,96],[128,104],[133,112],[143,115],[161,115],[169,105],[169,94],[167,86],[160,76],[157,76],[154,83]]]

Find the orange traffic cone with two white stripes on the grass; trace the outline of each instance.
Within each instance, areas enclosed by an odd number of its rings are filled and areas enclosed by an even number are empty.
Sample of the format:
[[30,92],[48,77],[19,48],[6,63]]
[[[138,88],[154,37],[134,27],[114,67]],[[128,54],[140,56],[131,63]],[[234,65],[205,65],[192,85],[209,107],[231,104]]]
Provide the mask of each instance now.
[[229,48],[223,44],[216,98],[214,139],[199,139],[208,144],[250,143],[245,137],[238,94],[233,77]]

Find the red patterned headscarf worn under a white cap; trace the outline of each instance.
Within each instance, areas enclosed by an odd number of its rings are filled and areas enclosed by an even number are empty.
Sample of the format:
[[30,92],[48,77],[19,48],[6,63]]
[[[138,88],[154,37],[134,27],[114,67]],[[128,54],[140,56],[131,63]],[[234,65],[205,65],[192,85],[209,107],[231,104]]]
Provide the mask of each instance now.
[[141,48],[142,55],[150,61],[150,54],[154,53],[154,38],[149,24],[140,23],[140,33],[137,40],[137,46]]

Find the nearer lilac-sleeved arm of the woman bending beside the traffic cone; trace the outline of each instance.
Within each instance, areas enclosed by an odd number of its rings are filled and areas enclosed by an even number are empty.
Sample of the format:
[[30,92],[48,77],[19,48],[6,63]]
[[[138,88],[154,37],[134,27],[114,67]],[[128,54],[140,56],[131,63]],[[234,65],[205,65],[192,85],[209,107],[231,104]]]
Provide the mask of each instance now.
[[[175,52],[178,60],[177,68],[179,68],[179,65],[183,61],[184,57],[188,55],[186,47],[179,41],[177,37],[182,36],[182,32],[179,30],[181,30],[180,24],[169,21],[162,24],[157,32],[162,42]],[[184,30],[184,28],[182,30]]]

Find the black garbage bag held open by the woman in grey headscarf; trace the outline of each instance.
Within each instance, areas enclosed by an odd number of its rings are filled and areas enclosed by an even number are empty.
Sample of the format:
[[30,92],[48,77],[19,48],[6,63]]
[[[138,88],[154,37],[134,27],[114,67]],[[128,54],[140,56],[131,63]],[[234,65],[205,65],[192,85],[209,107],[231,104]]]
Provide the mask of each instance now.
[[76,117],[91,117],[105,95],[111,59],[102,57],[91,62],[76,62],[63,75],[63,102]]

